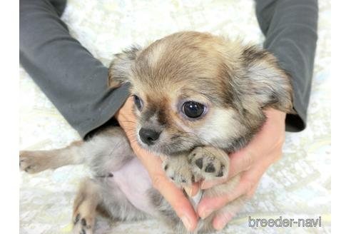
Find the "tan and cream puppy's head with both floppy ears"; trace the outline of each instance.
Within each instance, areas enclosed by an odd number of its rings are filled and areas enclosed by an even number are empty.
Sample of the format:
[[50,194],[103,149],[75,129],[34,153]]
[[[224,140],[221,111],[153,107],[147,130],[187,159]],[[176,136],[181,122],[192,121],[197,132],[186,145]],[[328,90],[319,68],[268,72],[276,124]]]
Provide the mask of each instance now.
[[292,111],[290,80],[273,55],[218,36],[181,32],[117,55],[111,88],[131,83],[136,137],[155,153],[196,146],[235,151],[263,126],[263,108]]

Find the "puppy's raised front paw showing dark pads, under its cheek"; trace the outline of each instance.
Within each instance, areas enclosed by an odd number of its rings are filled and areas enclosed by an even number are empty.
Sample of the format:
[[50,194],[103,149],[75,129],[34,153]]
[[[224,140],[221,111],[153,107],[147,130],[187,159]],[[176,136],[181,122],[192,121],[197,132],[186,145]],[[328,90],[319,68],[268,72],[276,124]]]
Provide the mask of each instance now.
[[190,153],[189,158],[195,175],[199,175],[205,180],[228,176],[228,154],[218,148],[197,147]]

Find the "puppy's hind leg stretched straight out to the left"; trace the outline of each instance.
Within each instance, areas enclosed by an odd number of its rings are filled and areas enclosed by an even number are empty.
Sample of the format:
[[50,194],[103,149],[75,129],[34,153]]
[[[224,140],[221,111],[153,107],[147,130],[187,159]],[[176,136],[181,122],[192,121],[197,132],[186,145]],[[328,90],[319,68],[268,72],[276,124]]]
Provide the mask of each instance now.
[[121,168],[134,156],[121,128],[101,131],[89,141],[76,141],[52,151],[21,151],[19,166],[28,173],[38,173],[71,164],[87,163],[96,175],[106,175]]

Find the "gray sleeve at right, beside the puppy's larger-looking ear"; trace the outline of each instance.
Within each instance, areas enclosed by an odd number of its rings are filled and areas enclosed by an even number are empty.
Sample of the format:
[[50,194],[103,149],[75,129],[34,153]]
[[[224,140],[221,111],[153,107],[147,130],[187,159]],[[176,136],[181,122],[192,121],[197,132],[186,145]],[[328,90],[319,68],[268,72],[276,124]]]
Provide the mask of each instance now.
[[288,114],[286,130],[302,131],[306,127],[317,43],[317,0],[256,0],[256,16],[265,34],[263,47],[292,76],[297,115]]

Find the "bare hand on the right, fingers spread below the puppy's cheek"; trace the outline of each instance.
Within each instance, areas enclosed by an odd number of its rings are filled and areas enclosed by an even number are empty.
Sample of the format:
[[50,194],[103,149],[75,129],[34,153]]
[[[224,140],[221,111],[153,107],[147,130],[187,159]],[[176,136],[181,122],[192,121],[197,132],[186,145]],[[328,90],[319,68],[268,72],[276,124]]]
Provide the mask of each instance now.
[[[202,198],[198,205],[198,214],[201,218],[208,217],[210,213],[223,208],[227,203],[239,198],[241,195],[251,198],[263,173],[271,164],[281,158],[285,142],[286,114],[273,108],[268,108],[265,111],[265,115],[267,116],[267,121],[248,146],[229,155],[230,171],[228,178],[233,178],[233,176],[241,173],[235,190],[214,198]],[[228,180],[228,178],[225,180]],[[225,183],[225,180],[203,181],[201,188],[207,189],[214,185]],[[237,211],[238,208],[235,208],[231,213],[216,215],[213,218],[213,228],[217,230],[224,228]]]

